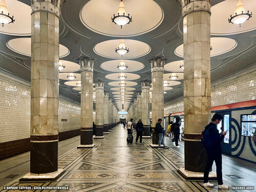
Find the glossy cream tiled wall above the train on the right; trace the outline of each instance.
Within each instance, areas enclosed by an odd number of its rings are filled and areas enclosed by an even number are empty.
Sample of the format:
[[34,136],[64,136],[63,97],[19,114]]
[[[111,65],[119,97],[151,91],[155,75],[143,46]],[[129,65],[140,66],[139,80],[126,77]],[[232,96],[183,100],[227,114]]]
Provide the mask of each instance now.
[[[256,71],[211,87],[211,106],[236,103],[256,98]],[[164,114],[183,111],[183,99],[164,106]]]

